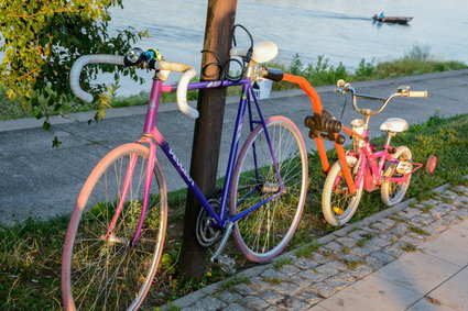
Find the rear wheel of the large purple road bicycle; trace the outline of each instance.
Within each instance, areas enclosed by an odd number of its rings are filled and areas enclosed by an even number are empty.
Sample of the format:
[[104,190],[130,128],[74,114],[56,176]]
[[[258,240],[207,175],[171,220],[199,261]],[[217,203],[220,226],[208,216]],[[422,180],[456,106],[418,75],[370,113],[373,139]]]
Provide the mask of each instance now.
[[260,124],[239,153],[229,202],[230,215],[263,202],[239,220],[232,232],[240,252],[255,263],[273,258],[287,245],[301,220],[308,181],[307,153],[297,126],[284,116],[265,123],[273,154]]

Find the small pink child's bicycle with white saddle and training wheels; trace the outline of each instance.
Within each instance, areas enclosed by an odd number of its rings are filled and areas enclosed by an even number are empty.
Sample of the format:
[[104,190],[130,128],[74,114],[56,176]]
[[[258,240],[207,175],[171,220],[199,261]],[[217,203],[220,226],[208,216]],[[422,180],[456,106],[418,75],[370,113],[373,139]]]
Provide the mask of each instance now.
[[[361,200],[362,190],[370,192],[380,188],[382,201],[387,206],[394,206],[403,200],[412,174],[423,166],[427,173],[433,173],[437,162],[436,157],[431,155],[425,164],[414,163],[409,147],[391,146],[392,137],[407,130],[407,122],[403,119],[390,118],[380,125],[380,130],[387,133],[383,149],[380,152],[370,143],[368,132],[370,118],[381,113],[390,100],[395,97],[427,97],[427,91],[410,91],[410,87],[400,87],[396,93],[382,98],[357,93],[355,88],[344,80],[339,80],[337,86],[340,88],[338,92],[351,93],[352,107],[356,112],[364,115],[364,120],[353,120],[351,129],[342,126],[330,115],[325,120],[339,124],[335,126],[338,131],[333,131],[336,143],[342,144],[345,141],[345,137],[338,134],[340,130],[352,137],[352,149],[346,153],[346,165],[350,168],[352,178],[349,180],[345,178],[342,164],[338,160],[328,171],[323,190],[322,211],[326,221],[335,226],[342,225],[351,219]],[[358,98],[378,100],[382,104],[378,110],[362,109],[358,107]]]

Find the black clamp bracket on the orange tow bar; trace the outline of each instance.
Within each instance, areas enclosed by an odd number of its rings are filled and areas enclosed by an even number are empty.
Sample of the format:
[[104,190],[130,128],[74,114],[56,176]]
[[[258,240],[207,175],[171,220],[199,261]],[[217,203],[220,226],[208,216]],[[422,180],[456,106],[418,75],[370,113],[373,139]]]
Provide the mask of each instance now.
[[308,136],[311,138],[320,137],[331,142],[342,144],[345,137],[338,135],[335,140],[335,134],[341,131],[342,123],[339,120],[336,120],[328,111],[322,110],[322,113],[314,113],[314,115],[307,115],[304,120],[305,126],[311,131]]

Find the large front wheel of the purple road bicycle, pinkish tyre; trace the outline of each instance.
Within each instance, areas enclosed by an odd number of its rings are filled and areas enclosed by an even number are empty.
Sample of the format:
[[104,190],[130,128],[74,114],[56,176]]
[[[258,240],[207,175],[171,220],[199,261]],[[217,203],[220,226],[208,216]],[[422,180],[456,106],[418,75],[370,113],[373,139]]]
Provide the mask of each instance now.
[[[65,237],[62,295],[66,310],[134,310],[151,287],[166,229],[166,188],[155,162],[146,216],[137,245],[148,147],[126,144],[94,168],[78,196]],[[123,184],[134,165],[121,212]],[[130,175],[129,175],[130,176]],[[109,230],[119,213],[113,230]]]

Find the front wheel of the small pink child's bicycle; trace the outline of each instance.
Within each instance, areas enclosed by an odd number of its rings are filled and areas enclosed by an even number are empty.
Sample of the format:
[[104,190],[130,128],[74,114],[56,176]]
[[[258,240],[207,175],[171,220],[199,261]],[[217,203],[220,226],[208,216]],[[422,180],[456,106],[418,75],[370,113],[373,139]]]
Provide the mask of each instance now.
[[[347,156],[346,160],[349,167],[353,167],[357,163],[351,156]],[[345,177],[341,176],[341,164],[337,160],[328,171],[322,193],[322,213],[325,220],[334,226],[347,223],[358,209],[362,188],[363,180],[353,196],[349,193]]]

